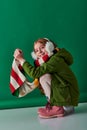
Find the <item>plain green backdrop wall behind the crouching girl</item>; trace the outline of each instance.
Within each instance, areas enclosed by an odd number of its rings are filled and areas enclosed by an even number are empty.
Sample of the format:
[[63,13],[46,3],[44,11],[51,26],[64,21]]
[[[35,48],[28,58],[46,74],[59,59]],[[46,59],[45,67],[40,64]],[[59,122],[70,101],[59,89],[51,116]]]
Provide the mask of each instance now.
[[[40,106],[46,99],[36,89],[23,98],[12,96],[9,83],[13,53],[24,52],[33,63],[33,42],[47,37],[68,49],[77,76],[80,99],[87,101],[87,2],[86,0],[0,1],[0,109]],[[31,79],[30,79],[31,80]]]

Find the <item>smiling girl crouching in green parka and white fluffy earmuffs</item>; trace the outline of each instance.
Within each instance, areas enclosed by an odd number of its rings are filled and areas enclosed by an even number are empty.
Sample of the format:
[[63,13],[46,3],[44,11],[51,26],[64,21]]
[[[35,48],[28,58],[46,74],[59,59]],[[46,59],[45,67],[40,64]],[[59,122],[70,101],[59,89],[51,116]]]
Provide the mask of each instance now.
[[64,48],[57,48],[54,42],[40,38],[34,42],[32,52],[35,66],[23,58],[23,52],[16,49],[14,58],[32,78],[38,78],[40,88],[47,97],[45,108],[39,108],[41,118],[64,116],[78,105],[79,89],[77,79],[70,69],[72,55]]

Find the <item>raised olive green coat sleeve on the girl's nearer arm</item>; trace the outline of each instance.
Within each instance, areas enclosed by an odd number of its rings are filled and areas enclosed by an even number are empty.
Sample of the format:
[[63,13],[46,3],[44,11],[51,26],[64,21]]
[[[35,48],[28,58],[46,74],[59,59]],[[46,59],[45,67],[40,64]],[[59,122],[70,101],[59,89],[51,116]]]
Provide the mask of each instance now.
[[45,73],[56,73],[61,70],[61,66],[64,66],[63,59],[52,56],[49,61],[43,63],[39,67],[32,66],[29,62],[25,61],[23,64],[23,69],[31,78],[39,78]]

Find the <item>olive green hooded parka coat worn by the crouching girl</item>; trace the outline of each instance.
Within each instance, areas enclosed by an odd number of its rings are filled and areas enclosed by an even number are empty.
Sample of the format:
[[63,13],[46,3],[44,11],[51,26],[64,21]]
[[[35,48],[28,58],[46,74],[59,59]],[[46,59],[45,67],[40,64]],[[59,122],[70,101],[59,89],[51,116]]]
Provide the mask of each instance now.
[[77,106],[79,88],[77,79],[70,69],[72,63],[72,55],[63,48],[39,67],[32,66],[29,62],[25,61],[23,69],[33,79],[40,78],[45,73],[51,74],[51,105]]

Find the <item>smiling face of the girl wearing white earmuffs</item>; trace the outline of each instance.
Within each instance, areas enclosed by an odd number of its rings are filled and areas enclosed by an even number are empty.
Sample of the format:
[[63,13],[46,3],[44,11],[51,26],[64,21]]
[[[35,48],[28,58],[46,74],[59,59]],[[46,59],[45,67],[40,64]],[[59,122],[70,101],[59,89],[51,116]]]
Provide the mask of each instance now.
[[34,51],[38,59],[47,54],[47,51],[45,49],[45,44],[42,44],[40,42],[35,43]]

